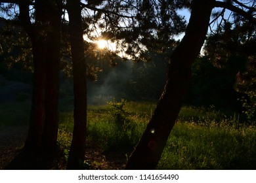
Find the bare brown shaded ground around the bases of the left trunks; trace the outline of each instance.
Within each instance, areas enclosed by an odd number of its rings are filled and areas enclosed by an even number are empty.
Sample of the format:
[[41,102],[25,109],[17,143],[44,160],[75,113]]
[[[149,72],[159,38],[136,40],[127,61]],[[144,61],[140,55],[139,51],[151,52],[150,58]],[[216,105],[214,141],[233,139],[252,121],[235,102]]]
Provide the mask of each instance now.
[[[41,154],[28,163],[28,155],[22,152],[28,126],[7,127],[0,130],[0,169],[65,169],[66,159],[59,150],[51,165],[45,166]],[[31,156],[30,156],[31,158]],[[85,169],[124,169],[126,158],[121,152],[102,153],[100,148],[87,144]]]

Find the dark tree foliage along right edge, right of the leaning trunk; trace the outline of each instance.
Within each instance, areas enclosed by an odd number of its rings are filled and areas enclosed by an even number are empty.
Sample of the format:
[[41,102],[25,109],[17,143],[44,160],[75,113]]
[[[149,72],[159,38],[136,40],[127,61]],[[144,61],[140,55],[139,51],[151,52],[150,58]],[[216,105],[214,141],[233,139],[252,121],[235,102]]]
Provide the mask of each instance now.
[[249,122],[255,121],[255,31],[255,25],[234,16],[219,24],[216,34],[207,37],[204,49],[209,61],[225,73],[226,80],[240,93],[237,99]]

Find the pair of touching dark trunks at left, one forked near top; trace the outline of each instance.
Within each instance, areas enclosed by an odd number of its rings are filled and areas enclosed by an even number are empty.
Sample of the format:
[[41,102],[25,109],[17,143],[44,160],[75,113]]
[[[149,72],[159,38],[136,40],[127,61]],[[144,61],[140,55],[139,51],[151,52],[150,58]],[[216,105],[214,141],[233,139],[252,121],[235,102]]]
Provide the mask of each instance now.
[[58,134],[61,1],[35,1],[35,23],[30,1],[19,3],[20,20],[32,41],[33,93],[30,129],[25,148],[54,150]]

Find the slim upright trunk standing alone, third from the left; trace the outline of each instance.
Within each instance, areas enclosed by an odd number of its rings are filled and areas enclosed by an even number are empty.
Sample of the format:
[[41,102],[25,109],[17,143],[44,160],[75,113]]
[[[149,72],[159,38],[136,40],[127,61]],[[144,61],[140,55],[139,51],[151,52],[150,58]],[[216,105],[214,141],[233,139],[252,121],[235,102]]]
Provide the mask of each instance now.
[[68,0],[67,7],[74,76],[74,131],[67,169],[81,169],[85,159],[87,88],[80,1]]

